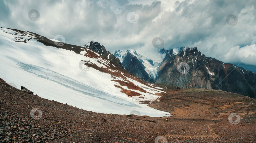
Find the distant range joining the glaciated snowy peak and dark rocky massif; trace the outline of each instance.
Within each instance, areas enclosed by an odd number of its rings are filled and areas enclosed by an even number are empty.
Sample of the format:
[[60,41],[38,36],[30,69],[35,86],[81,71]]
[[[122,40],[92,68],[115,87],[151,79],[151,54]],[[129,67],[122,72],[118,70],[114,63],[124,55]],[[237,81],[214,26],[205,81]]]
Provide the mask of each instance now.
[[[135,50],[117,50],[122,66],[137,77],[180,88],[217,89],[256,97],[256,73],[205,57],[195,48],[160,49],[163,61],[152,61]],[[149,70],[150,69],[150,70]]]

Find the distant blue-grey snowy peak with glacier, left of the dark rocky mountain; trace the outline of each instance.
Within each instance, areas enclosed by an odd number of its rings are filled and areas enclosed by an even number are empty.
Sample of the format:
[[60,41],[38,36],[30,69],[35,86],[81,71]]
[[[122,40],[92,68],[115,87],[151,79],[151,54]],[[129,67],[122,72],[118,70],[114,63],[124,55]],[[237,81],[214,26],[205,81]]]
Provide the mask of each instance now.
[[119,58],[122,66],[128,72],[149,82],[154,81],[157,77],[157,69],[162,62],[162,60],[151,60],[132,49],[117,50],[114,56]]

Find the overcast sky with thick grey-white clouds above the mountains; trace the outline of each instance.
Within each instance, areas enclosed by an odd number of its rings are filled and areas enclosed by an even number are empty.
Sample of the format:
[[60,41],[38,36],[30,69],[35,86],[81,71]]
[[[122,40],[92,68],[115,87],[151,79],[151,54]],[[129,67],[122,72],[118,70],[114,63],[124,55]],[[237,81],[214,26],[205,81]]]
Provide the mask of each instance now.
[[153,59],[152,40],[161,37],[165,49],[197,47],[256,71],[255,6],[256,0],[0,0],[0,27],[62,35],[80,46],[97,41],[112,53],[135,49]]

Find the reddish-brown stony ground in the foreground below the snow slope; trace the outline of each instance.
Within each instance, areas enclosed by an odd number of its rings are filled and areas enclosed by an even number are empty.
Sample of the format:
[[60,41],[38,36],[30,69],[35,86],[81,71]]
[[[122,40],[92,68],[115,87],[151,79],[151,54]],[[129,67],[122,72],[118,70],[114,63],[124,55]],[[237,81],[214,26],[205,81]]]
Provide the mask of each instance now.
[[[167,88],[149,105],[173,114],[160,118],[95,113],[39,96],[0,79],[0,142],[256,142],[256,101],[239,94]],[[238,124],[229,122],[233,112]]]

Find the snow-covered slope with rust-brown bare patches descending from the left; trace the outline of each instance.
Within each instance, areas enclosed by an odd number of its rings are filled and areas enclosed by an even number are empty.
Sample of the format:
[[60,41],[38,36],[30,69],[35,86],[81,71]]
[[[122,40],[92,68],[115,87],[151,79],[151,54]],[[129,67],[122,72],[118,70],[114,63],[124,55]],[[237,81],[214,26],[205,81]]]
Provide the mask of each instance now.
[[163,92],[161,88],[88,48],[0,28],[0,61],[3,80],[49,100],[101,113],[130,114],[136,110],[152,117],[170,115],[141,104],[160,98],[156,94]]

